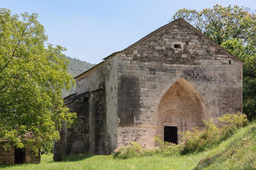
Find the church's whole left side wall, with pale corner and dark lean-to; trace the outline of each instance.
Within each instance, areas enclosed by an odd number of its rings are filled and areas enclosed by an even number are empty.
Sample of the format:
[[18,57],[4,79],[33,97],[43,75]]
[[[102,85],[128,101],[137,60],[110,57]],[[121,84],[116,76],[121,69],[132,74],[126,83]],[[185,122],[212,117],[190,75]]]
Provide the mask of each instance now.
[[[111,58],[75,78],[76,96],[66,106],[77,113],[77,124],[66,131],[63,141],[55,144],[56,151],[65,148],[65,155],[110,154],[117,146],[117,64]],[[65,134],[63,134],[65,136]],[[62,138],[61,138],[62,139]],[[63,155],[63,154],[62,154]],[[55,157],[61,156],[56,152]],[[56,159],[57,160],[57,159]]]

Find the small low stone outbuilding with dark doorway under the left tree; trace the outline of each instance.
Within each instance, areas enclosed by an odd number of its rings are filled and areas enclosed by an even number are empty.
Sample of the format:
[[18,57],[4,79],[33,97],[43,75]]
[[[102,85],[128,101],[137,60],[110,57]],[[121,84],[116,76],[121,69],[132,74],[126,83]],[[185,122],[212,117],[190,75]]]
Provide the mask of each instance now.
[[36,157],[30,148],[18,149],[11,147],[5,150],[1,146],[2,144],[4,144],[4,141],[0,142],[0,165],[41,162],[41,154]]

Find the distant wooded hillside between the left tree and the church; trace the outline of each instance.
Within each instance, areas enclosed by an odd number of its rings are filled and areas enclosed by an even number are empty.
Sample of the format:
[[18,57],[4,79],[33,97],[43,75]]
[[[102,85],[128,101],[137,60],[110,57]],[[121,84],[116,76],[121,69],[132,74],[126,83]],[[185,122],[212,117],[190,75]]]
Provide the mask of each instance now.
[[[85,72],[87,69],[92,68],[96,64],[91,64],[86,61],[81,61],[77,58],[71,58],[66,56],[66,58],[69,60],[69,69],[68,73],[72,74],[73,77],[76,77],[77,75],[80,75],[81,73]],[[70,91],[63,90],[61,97],[66,97],[70,94],[73,94],[76,92],[76,88],[72,87]]]

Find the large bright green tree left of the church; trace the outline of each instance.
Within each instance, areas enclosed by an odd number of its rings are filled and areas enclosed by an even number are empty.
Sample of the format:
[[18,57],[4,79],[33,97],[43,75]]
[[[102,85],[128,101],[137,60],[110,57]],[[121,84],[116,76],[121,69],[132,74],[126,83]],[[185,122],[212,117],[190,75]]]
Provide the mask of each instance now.
[[75,113],[65,108],[62,89],[74,84],[67,73],[65,48],[48,44],[37,14],[11,15],[0,8],[0,142],[8,148],[30,146],[38,154],[59,139],[62,121]]

